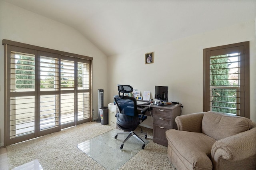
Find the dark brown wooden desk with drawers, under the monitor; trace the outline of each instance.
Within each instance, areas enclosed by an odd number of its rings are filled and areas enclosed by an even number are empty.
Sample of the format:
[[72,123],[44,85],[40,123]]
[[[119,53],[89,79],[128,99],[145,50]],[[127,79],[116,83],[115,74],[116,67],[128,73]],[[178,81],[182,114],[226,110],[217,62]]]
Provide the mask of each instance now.
[[181,115],[181,105],[138,105],[137,111],[140,114],[143,107],[152,108],[150,112],[146,112],[145,115],[153,117],[153,142],[168,146],[168,142],[165,136],[165,132],[168,129],[177,129],[175,118]]

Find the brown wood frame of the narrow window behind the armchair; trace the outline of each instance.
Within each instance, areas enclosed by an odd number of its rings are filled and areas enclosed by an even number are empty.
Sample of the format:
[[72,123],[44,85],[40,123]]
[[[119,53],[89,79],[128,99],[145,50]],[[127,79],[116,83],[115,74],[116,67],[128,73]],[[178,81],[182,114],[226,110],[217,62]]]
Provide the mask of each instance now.
[[249,41],[233,43],[229,45],[221,45],[217,47],[210,47],[203,49],[203,64],[204,64],[204,80],[203,80],[203,111],[210,111],[210,51],[221,50],[227,48],[239,48],[244,49],[244,59],[240,61],[242,70],[240,74],[243,74],[243,87],[240,86],[240,115],[250,119],[250,49]]

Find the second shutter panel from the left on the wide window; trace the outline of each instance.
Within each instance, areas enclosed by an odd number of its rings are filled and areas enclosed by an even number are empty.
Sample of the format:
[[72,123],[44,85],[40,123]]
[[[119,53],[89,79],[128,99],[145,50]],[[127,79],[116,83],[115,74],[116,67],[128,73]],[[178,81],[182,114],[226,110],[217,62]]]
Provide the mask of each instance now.
[[40,51],[40,135],[60,130],[59,65],[57,54]]

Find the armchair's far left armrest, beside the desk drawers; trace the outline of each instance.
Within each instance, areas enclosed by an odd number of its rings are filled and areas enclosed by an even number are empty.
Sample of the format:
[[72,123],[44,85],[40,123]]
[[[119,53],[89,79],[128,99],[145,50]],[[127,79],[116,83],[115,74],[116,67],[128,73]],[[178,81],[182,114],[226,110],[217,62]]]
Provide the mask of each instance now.
[[189,115],[177,116],[175,122],[178,126],[178,130],[189,132],[202,132],[202,119],[204,113],[192,113]]

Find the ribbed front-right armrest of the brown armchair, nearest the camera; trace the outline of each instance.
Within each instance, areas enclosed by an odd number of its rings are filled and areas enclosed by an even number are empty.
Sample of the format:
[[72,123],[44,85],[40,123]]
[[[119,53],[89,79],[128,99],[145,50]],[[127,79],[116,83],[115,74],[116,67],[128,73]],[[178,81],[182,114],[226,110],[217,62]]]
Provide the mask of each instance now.
[[256,155],[256,128],[214,142],[211,159],[215,167],[220,158],[239,161]]

